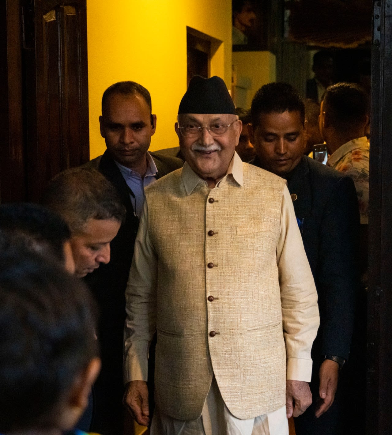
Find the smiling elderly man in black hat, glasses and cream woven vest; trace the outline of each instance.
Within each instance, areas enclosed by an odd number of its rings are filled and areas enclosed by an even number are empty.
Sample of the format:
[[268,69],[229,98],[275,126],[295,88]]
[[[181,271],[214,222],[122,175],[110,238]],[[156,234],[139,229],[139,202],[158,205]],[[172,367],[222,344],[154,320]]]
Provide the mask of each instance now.
[[312,402],[317,293],[285,181],[242,163],[219,77],[193,77],[182,169],[147,187],[126,290],[124,403],[151,434],[288,434]]

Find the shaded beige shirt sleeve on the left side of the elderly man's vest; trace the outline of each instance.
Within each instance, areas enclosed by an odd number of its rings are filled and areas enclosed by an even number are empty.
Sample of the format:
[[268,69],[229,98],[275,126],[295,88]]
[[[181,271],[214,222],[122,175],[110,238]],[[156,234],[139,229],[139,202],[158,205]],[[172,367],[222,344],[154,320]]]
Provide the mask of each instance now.
[[148,234],[144,201],[127,289],[124,327],[124,383],[147,381],[148,349],[156,327],[157,255]]

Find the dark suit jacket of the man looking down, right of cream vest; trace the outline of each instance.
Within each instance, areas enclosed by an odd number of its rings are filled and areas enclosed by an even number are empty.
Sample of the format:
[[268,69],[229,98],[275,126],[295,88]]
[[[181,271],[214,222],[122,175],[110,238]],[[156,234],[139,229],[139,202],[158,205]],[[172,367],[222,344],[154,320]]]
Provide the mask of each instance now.
[[358,200],[351,178],[309,157],[288,175],[318,293],[320,328],[312,347],[317,366],[324,355],[348,358],[350,350],[358,292]]

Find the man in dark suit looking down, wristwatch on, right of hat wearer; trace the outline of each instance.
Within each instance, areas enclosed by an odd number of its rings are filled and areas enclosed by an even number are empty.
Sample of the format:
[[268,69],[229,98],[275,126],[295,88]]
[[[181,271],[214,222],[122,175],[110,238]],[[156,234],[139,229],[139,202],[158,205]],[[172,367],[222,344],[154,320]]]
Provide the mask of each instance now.
[[349,177],[303,155],[305,107],[290,85],[261,87],[252,101],[251,120],[253,164],[287,180],[318,292],[320,328],[312,347],[310,384],[313,404],[295,418],[295,430],[297,435],[340,434],[339,369],[350,350],[358,291],[355,187]]

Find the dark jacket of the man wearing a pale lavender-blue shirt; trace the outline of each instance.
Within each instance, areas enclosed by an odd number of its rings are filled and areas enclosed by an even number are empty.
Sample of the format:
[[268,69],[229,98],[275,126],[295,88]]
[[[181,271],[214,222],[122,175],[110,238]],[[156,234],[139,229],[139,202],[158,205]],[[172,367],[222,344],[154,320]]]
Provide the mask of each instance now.
[[[157,177],[163,177],[182,167],[174,157],[151,153],[157,166]],[[92,428],[102,435],[122,433],[121,398],[123,393],[123,333],[125,321],[125,288],[134,253],[134,242],[139,225],[129,197],[129,188],[108,151],[83,165],[97,169],[121,197],[127,214],[117,236],[111,242],[111,260],[101,264],[85,278],[100,310],[98,337],[101,345],[102,368],[95,384],[95,417]],[[117,427],[118,425],[118,427]]]

